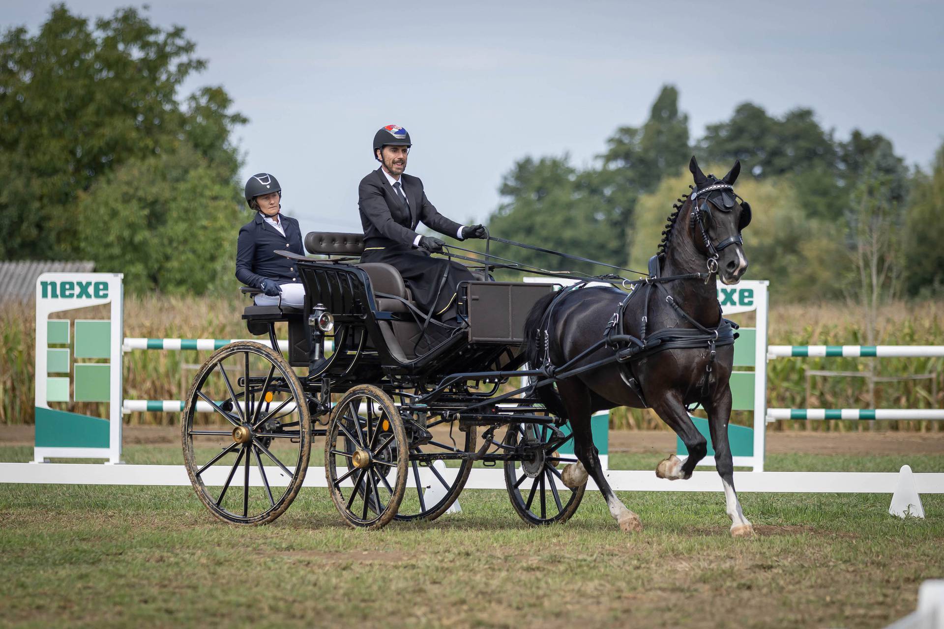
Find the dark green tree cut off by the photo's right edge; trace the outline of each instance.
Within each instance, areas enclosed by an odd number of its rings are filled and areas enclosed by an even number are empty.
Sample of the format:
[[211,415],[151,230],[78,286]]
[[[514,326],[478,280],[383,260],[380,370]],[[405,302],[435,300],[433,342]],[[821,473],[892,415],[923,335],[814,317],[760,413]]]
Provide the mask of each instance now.
[[905,220],[904,248],[910,294],[944,294],[944,143],[930,174],[915,174]]

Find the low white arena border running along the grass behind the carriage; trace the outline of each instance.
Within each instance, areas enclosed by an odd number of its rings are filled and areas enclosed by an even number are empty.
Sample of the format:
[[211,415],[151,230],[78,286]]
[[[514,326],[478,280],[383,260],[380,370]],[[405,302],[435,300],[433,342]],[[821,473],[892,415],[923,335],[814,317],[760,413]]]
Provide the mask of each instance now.
[[[425,468],[422,468],[424,472]],[[284,487],[288,479],[276,467],[266,467],[266,477],[274,487]],[[222,486],[226,469],[212,471],[208,485]],[[458,468],[443,471],[453,476]],[[218,476],[218,478],[217,478]],[[607,481],[616,491],[723,491],[717,472],[694,472],[688,480],[670,481],[655,472],[610,470]],[[914,474],[918,493],[944,493],[944,472]],[[885,493],[895,492],[899,472],[734,472],[734,487],[739,492],[776,493]],[[0,463],[0,483],[61,485],[152,485],[189,486],[190,477],[182,465],[89,465],[83,463]],[[560,482],[557,481],[559,487]],[[249,470],[249,484],[261,487],[256,468]],[[427,485],[427,483],[424,483]],[[327,488],[324,467],[310,467],[304,487]],[[525,487],[529,487],[526,483]],[[469,474],[468,489],[504,489],[501,469],[476,468]],[[587,488],[598,490],[593,480]]]

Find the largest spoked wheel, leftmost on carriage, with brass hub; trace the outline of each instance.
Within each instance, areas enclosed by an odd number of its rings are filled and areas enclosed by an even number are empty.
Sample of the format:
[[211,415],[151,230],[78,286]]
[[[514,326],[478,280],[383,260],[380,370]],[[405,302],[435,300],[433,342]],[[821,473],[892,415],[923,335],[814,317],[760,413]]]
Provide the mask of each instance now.
[[196,495],[220,520],[274,521],[308,470],[305,391],[285,358],[257,342],[229,343],[200,367],[181,433]]

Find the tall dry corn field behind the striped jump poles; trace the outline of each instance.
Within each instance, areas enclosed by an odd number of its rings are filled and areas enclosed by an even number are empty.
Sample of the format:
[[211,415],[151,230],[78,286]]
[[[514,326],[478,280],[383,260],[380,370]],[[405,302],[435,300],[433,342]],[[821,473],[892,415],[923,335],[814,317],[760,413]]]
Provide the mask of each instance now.
[[[127,297],[125,336],[182,339],[245,339],[240,320],[245,301],[238,297],[182,298]],[[95,308],[68,313],[70,319],[106,318]],[[35,366],[35,306],[32,302],[0,305],[0,423],[33,421]],[[752,314],[733,317],[753,324]],[[771,307],[768,342],[775,345],[856,345],[862,338],[861,311],[844,305],[790,305]],[[944,302],[900,302],[885,306],[877,329],[884,345],[944,344]],[[280,335],[285,337],[285,332]],[[196,367],[209,352],[134,351],[125,355],[125,398],[129,400],[179,400]],[[808,374],[812,371],[856,372],[900,381]],[[927,376],[927,377],[918,377]],[[874,402],[873,402],[874,401]],[[767,404],[804,408],[940,408],[944,406],[944,358],[778,358],[767,363]],[[106,417],[104,405],[71,403],[65,409]],[[746,423],[746,412],[733,414],[733,422]],[[131,423],[176,423],[175,413],[132,413]],[[866,430],[872,422],[800,422],[772,424],[774,430]],[[666,425],[649,410],[615,409],[611,426],[623,429],[661,429]],[[944,429],[936,422],[878,422],[876,428],[907,431]]]

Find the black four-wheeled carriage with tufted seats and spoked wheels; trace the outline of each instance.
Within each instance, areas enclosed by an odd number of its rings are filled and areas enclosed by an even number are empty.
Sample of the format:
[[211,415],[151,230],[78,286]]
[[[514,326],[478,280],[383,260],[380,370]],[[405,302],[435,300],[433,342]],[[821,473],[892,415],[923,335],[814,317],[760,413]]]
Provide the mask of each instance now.
[[[522,330],[554,286],[497,282],[487,266],[471,268],[479,279],[460,287],[464,324],[430,335],[439,323],[416,308],[396,269],[358,263],[360,234],[311,233],[305,244],[322,257],[282,253],[297,264],[305,306],[246,307],[249,332],[268,346],[216,351],[185,401],[186,467],[211,512],[274,521],[302,486],[312,443],[324,438],[329,492],[351,526],[438,518],[477,466],[503,475],[525,521],[573,515],[585,482],[562,482],[577,460],[559,452],[570,439],[565,420],[527,390],[496,397],[514,389],[510,380],[535,375],[519,371]],[[288,348],[277,323],[287,325]]]

